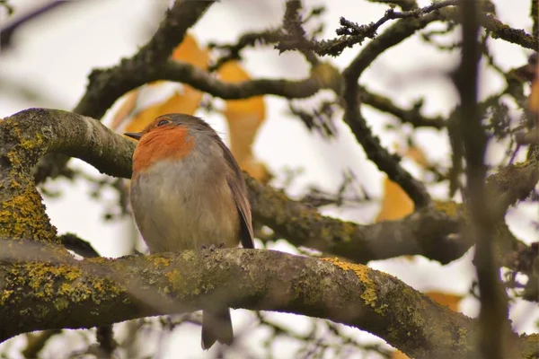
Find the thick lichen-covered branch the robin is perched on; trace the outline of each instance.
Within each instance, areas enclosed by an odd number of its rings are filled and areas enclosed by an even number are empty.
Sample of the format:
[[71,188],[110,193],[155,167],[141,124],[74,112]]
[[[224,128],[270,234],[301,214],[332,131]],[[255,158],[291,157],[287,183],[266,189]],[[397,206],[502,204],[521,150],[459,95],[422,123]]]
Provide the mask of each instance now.
[[[474,353],[474,320],[394,276],[336,259],[234,249],[57,263],[4,261],[0,278],[0,320],[11,323],[0,328],[2,340],[37,329],[91,328],[195,311],[218,301],[344,323],[415,358]],[[528,349],[526,337],[514,335],[513,341],[515,354]]]

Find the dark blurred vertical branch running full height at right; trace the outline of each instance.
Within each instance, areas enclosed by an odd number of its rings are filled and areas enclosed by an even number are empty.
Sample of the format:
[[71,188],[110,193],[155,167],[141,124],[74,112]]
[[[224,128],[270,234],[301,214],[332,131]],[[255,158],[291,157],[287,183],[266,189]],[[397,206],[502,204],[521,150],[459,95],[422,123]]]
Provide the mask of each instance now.
[[[495,256],[493,216],[485,179],[487,167],[484,156],[488,138],[482,127],[482,114],[477,103],[480,47],[478,43],[479,10],[474,1],[462,5],[463,45],[462,60],[455,75],[461,108],[459,129],[466,160],[466,197],[470,214],[470,238],[476,241],[474,264],[481,293],[479,313],[478,353],[483,358],[508,358],[507,296],[499,278],[499,264]],[[505,213],[505,211],[504,211]]]

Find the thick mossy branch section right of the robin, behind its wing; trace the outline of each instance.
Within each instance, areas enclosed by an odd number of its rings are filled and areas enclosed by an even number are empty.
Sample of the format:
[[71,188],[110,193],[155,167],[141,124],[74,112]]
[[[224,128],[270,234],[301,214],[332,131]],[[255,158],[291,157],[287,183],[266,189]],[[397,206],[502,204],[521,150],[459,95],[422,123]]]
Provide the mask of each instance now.
[[316,209],[251,178],[247,178],[247,185],[255,221],[268,225],[296,246],[358,263],[409,253],[443,264],[460,258],[470,248],[470,244],[452,236],[459,230],[457,205],[429,206],[399,221],[358,225],[320,215]]

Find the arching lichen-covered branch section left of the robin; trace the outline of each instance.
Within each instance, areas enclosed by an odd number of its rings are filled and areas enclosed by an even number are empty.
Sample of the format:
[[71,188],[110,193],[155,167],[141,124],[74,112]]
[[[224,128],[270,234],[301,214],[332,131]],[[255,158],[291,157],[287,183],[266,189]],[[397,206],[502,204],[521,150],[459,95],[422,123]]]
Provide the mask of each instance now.
[[31,169],[47,153],[95,164],[111,176],[128,177],[135,144],[110,136],[93,118],[55,109],[29,109],[0,122],[0,237],[57,241]]

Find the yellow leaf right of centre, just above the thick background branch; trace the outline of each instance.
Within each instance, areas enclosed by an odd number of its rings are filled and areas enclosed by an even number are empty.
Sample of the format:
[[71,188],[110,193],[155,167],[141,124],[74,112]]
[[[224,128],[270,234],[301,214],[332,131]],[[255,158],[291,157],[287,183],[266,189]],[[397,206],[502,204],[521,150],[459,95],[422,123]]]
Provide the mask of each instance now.
[[401,219],[413,212],[413,201],[408,194],[393,180],[384,179],[384,198],[382,208],[376,216],[376,222]]

